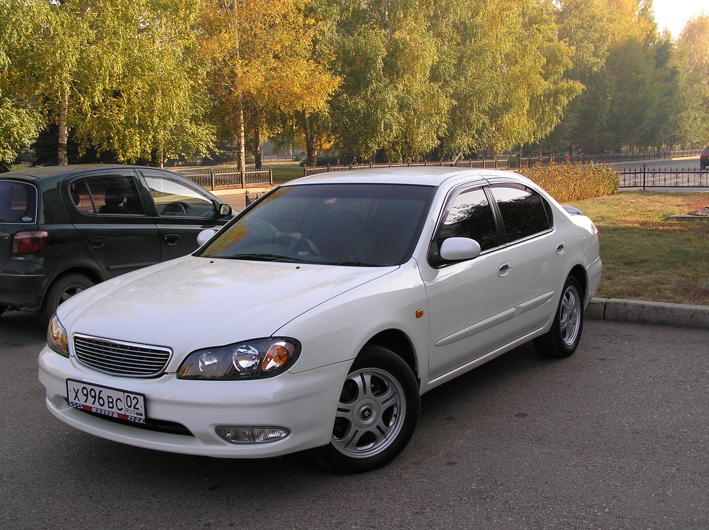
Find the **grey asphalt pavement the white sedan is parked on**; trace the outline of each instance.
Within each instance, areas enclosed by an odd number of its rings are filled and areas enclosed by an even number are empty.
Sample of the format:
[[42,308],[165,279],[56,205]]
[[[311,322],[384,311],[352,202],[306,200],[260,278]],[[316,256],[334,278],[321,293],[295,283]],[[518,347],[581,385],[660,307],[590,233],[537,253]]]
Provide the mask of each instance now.
[[84,434],[45,410],[32,317],[0,317],[3,529],[707,529],[709,334],[586,322],[423,396],[388,467],[219,460]]

